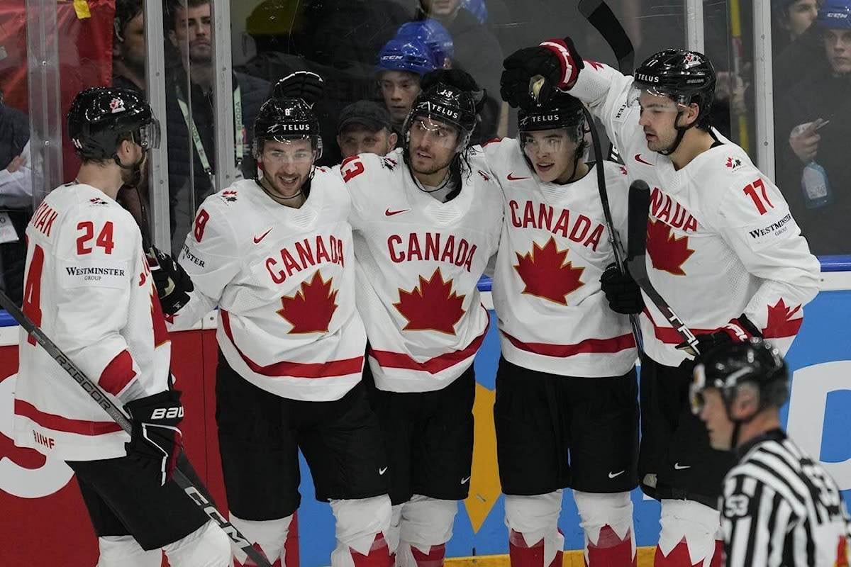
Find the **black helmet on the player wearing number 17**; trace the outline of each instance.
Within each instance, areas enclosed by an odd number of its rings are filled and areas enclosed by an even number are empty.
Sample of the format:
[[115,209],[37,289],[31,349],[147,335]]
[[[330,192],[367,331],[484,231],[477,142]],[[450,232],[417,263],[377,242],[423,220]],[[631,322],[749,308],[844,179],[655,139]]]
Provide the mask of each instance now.
[[694,125],[709,128],[709,111],[715,99],[715,68],[696,51],[665,49],[651,55],[635,72],[635,87],[666,96],[678,105],[695,103],[700,113]]

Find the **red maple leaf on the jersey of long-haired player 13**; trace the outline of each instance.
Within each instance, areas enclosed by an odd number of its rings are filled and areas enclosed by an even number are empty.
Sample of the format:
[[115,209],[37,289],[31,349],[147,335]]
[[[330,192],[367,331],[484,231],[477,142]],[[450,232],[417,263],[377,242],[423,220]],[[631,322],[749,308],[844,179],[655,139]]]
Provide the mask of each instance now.
[[455,334],[455,323],[464,315],[461,305],[464,295],[452,291],[452,280],[443,280],[440,268],[426,280],[420,275],[420,285],[410,292],[399,290],[399,301],[393,307],[408,320],[403,331],[437,331]]

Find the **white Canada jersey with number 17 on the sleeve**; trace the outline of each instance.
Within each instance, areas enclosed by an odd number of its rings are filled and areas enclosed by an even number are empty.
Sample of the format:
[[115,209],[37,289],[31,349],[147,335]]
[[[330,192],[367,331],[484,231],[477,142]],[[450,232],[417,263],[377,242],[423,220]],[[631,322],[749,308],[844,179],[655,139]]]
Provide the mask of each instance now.
[[[695,333],[743,313],[782,352],[819,291],[820,264],[780,190],[738,145],[722,142],[677,171],[647,148],[632,77],[589,61],[570,94],[591,105],[614,139],[631,181],[650,186],[647,267],[651,283]],[[645,296],[644,348],[677,366],[677,332]]]

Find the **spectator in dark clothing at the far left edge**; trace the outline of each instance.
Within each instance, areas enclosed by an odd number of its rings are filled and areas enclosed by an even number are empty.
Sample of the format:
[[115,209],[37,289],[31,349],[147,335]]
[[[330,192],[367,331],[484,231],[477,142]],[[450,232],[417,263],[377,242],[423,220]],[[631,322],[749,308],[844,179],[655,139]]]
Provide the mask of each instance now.
[[0,90],[0,289],[20,305],[23,297],[26,243],[32,215],[30,120],[3,104]]

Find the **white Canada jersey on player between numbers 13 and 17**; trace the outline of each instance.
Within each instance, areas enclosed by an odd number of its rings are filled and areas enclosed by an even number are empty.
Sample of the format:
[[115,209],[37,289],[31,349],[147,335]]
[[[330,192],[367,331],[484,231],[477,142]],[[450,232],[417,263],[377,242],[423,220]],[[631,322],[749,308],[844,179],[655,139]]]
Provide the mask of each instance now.
[[[494,309],[505,360],[576,377],[625,374],[637,353],[629,318],[614,313],[600,275],[614,262],[597,165],[569,184],[541,183],[517,139],[484,146],[505,196]],[[626,233],[626,171],[603,162],[615,230]]]

